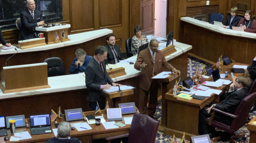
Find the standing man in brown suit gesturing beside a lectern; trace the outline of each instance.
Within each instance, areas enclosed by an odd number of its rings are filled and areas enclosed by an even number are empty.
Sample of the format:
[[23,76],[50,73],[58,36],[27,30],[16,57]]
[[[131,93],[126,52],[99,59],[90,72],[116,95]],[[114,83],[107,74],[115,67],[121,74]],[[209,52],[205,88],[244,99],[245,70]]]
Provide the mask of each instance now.
[[[157,106],[157,92],[159,83],[151,82],[151,78],[162,72],[162,66],[170,71],[173,70],[173,72],[179,75],[181,72],[163,60],[165,57],[162,51],[158,50],[158,53],[156,52],[157,48],[159,47],[156,39],[152,39],[148,46],[150,48],[140,51],[137,61],[134,64],[134,68],[141,71],[139,111],[142,114],[148,114],[152,118],[156,118],[154,114]],[[150,100],[147,108],[148,92],[150,93]]]

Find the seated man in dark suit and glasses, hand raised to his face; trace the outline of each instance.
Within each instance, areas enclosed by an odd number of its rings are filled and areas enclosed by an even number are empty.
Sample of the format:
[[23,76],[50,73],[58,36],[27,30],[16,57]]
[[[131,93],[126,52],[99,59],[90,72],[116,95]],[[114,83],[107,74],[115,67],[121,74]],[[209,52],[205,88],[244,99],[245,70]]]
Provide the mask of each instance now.
[[[212,133],[213,136],[215,136],[216,135],[215,128],[205,123],[205,119],[211,116],[211,113],[212,113],[211,109],[215,107],[224,112],[233,114],[237,110],[242,99],[247,95],[249,95],[248,88],[250,87],[250,85],[251,85],[250,78],[245,76],[240,76],[235,80],[235,83],[232,83],[230,85],[229,95],[226,97],[226,99],[222,103],[210,104],[204,109],[200,110],[199,126],[198,126],[199,134]],[[226,125],[230,125],[232,118],[229,116],[223,115],[221,113],[215,112],[214,120],[222,122]]]

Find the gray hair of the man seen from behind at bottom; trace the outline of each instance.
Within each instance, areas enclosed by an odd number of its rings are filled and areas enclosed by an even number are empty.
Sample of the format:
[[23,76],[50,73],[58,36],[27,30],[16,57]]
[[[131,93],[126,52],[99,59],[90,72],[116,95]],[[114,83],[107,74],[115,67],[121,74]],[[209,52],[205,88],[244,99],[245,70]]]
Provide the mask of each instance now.
[[59,124],[57,131],[60,138],[68,138],[71,131],[71,125],[69,122],[62,122]]

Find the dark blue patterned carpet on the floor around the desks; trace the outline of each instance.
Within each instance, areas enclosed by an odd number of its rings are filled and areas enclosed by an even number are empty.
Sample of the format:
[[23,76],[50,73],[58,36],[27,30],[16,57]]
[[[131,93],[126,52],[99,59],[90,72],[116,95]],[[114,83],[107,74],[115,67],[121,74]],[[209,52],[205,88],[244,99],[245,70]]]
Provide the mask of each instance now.
[[[200,61],[194,57],[189,56],[188,57],[188,76],[193,77],[196,75],[196,67],[197,66],[211,66],[211,64],[209,63],[205,63],[203,61]],[[157,109],[156,109],[156,113],[155,116],[158,117],[158,120],[161,121],[161,110],[162,110],[162,102],[161,100],[158,101],[158,105],[157,105]],[[250,113],[251,117],[253,118],[256,115],[256,111],[254,111],[253,113]],[[216,129],[218,130],[218,129]],[[245,124],[245,126],[243,126],[242,128],[240,128],[237,133],[245,133],[245,139],[238,139],[237,143],[249,143],[249,139],[250,139],[250,132],[247,130],[247,124]],[[163,132],[158,131],[156,134],[156,143],[172,143],[172,138],[173,135],[166,135]],[[190,140],[187,138],[187,140]],[[178,139],[179,142],[181,142],[181,139]],[[219,141],[219,142],[215,142],[215,143],[229,143],[229,142],[223,142],[223,141]]]

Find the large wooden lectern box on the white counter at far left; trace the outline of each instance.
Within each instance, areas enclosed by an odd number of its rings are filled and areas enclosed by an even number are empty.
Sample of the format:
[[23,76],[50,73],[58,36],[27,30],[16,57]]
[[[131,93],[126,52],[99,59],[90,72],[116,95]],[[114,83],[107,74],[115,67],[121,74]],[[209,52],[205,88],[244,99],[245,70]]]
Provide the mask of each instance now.
[[48,85],[47,63],[3,67],[0,76],[3,93],[51,88]]

